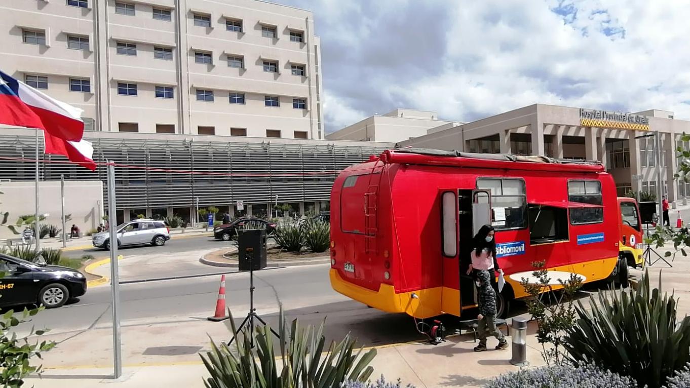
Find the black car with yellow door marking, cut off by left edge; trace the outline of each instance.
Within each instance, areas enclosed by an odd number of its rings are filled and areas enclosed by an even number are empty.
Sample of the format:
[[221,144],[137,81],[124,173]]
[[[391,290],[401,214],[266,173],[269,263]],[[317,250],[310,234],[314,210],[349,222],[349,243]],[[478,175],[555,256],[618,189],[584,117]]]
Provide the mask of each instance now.
[[86,293],[86,278],[66,266],[39,265],[0,254],[0,307],[15,304],[43,304],[61,307],[71,298]]

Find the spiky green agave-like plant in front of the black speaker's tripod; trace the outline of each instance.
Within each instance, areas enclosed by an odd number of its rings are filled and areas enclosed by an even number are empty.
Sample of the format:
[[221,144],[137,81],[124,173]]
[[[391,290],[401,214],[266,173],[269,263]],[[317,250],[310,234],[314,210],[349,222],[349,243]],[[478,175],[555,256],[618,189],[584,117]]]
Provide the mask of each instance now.
[[[235,322],[230,316],[233,333]],[[366,381],[373,373],[368,364],[376,356],[371,349],[355,351],[348,333],[340,342],[331,342],[324,353],[324,323],[318,328],[300,327],[293,320],[290,329],[281,310],[279,318],[279,357],[270,326],[259,326],[253,333],[241,332],[235,349],[211,344],[211,351],[201,355],[210,374],[204,380],[207,388],[311,388],[339,387],[345,381]],[[253,347],[252,345],[255,344]]]

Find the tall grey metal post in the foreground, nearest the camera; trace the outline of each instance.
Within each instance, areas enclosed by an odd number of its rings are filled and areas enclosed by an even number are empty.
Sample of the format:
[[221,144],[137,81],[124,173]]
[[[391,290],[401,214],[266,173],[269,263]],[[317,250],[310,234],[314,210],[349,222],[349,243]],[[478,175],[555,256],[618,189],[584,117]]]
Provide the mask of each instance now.
[[108,220],[110,221],[110,291],[112,291],[112,349],[115,362],[115,378],[122,376],[122,347],[120,342],[120,283],[117,273],[117,222],[115,215],[115,165],[108,161]]

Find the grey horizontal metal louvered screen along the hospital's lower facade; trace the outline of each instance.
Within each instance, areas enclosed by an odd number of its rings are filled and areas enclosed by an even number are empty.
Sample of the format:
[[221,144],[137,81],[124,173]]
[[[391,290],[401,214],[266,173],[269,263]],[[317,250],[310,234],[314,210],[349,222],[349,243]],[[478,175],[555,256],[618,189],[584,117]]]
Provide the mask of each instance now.
[[[384,147],[270,142],[199,142],[188,139],[86,139],[97,162],[159,168],[115,168],[117,208],[162,208],[328,201],[337,173]],[[42,149],[41,140],[41,149]],[[0,156],[34,158],[34,137],[0,135]],[[61,156],[41,158],[63,161]],[[172,170],[172,171],[170,171]],[[193,171],[176,173],[175,171]],[[207,175],[204,175],[206,173]],[[228,175],[213,175],[213,174]],[[41,164],[41,180],[101,180],[107,208],[106,168],[91,172],[72,164]],[[32,162],[0,159],[0,180],[34,180]]]

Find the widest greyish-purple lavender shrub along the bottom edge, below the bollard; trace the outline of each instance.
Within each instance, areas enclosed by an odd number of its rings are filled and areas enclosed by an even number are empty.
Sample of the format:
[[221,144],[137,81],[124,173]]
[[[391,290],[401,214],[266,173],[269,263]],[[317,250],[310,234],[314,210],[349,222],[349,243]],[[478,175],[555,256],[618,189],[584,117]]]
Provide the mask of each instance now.
[[520,369],[498,376],[484,388],[570,388],[570,387],[607,387],[635,388],[635,380],[619,376],[611,371],[603,371],[591,364],[579,367],[571,365],[553,365],[535,369]]

